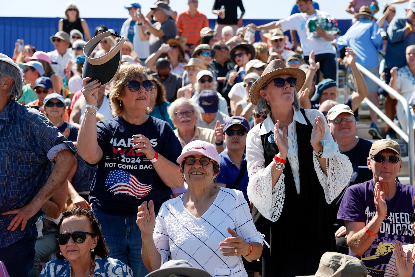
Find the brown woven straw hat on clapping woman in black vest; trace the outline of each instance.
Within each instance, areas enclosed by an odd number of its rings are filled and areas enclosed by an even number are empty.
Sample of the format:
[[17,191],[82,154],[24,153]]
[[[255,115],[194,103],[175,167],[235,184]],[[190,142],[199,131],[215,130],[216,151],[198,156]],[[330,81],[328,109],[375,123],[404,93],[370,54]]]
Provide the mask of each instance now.
[[259,102],[261,95],[259,92],[261,88],[269,83],[277,75],[290,75],[291,77],[297,78],[297,85],[295,88],[297,91],[300,91],[300,88],[303,86],[305,81],[305,73],[303,70],[293,67],[287,67],[286,64],[281,60],[272,60],[268,66],[266,66],[261,77],[256,80],[251,88],[249,89],[249,101],[252,104],[256,105]]

